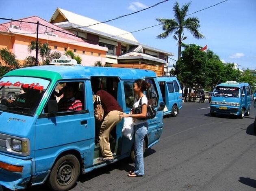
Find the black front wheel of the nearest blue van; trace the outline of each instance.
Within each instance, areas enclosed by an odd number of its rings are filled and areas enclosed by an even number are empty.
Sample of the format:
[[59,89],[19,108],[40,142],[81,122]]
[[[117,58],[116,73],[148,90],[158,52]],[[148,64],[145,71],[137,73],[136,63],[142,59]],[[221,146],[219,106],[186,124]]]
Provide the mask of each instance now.
[[80,174],[80,163],[74,155],[65,155],[56,161],[47,180],[54,191],[67,191],[74,187]]

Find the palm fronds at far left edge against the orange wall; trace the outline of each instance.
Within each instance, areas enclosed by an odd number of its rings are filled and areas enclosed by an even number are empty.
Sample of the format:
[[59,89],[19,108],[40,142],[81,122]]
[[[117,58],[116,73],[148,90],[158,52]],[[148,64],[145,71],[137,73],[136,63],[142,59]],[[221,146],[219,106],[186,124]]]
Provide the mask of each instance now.
[[4,62],[5,66],[19,68],[19,62],[16,59],[15,54],[9,51],[7,48],[0,49],[0,59],[2,62]]

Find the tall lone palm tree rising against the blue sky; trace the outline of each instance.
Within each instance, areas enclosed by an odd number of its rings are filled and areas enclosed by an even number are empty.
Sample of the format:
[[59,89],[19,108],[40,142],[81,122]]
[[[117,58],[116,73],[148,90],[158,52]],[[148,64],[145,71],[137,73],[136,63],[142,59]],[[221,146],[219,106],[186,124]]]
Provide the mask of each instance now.
[[187,3],[180,8],[178,2],[176,2],[173,8],[175,19],[156,19],[163,24],[162,29],[165,31],[156,36],[156,38],[167,38],[169,35],[175,34],[173,38],[174,40],[178,40],[178,59],[181,56],[182,40],[187,38],[186,36],[184,37],[185,28],[189,30],[196,39],[204,38],[204,35],[200,34],[198,31],[200,28],[199,19],[197,17],[185,18],[189,11],[189,5],[190,3]]

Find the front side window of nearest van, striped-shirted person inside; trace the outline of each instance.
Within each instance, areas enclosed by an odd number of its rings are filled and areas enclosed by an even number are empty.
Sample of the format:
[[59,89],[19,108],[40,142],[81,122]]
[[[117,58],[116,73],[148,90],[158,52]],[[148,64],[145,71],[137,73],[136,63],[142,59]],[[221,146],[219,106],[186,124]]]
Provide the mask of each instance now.
[[[85,85],[83,82],[59,82],[51,94],[50,100],[57,100],[58,112],[70,112],[85,109]],[[44,112],[47,113],[47,105]]]

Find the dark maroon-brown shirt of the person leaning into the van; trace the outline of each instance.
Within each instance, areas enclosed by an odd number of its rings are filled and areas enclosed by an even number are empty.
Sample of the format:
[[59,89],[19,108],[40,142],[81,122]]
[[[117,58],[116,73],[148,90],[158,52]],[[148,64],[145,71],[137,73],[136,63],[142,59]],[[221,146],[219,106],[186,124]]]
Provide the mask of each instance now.
[[105,90],[99,90],[96,93],[97,96],[100,96],[101,105],[104,109],[105,114],[117,110],[117,111],[123,111],[122,108],[117,103],[117,100],[107,91]]

